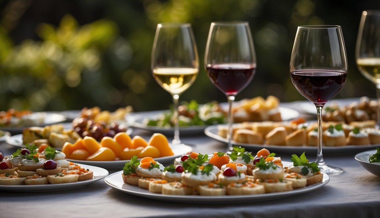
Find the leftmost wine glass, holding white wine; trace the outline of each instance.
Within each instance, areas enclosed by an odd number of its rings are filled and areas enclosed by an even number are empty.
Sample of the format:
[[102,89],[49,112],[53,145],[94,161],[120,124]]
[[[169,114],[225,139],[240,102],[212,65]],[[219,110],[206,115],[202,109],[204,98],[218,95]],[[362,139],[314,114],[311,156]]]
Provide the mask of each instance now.
[[154,37],[151,67],[154,79],[173,97],[173,144],[180,144],[179,95],[195,81],[199,58],[190,23],[159,23]]

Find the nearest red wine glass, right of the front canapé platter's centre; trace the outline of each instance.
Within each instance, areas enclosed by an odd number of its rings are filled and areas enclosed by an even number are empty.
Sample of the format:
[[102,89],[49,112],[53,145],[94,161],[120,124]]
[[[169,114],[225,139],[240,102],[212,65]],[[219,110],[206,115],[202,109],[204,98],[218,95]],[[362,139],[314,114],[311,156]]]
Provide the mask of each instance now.
[[340,26],[299,26],[290,59],[291,80],[317,107],[318,153],[322,172],[343,170],[326,165],[322,156],[322,109],[342,89],[347,78],[347,55]]

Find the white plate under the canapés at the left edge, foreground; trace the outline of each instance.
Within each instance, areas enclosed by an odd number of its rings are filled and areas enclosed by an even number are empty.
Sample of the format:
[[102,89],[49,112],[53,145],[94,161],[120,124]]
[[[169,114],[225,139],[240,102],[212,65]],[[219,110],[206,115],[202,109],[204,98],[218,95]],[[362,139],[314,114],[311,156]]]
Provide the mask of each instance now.
[[80,164],[81,167],[93,171],[93,179],[79,182],[46,185],[0,185],[0,190],[7,192],[52,192],[79,188],[108,176],[108,170],[90,165]]

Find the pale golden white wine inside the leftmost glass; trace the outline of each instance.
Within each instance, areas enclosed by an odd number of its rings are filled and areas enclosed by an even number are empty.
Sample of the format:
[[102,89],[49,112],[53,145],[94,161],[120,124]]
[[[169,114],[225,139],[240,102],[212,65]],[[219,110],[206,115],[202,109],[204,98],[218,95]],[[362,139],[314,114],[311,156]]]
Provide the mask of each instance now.
[[187,90],[198,75],[196,68],[155,68],[153,76],[163,89],[171,94],[181,94]]

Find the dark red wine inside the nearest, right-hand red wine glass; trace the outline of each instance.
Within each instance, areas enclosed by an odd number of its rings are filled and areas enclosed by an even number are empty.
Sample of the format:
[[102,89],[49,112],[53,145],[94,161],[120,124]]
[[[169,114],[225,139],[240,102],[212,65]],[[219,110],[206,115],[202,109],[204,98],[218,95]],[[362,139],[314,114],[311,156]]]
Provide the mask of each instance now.
[[316,105],[339,93],[347,78],[347,73],[331,70],[300,70],[290,75],[298,92]]

